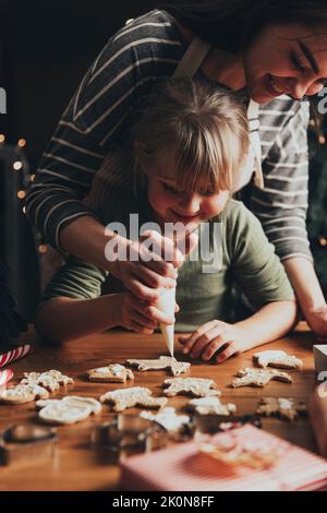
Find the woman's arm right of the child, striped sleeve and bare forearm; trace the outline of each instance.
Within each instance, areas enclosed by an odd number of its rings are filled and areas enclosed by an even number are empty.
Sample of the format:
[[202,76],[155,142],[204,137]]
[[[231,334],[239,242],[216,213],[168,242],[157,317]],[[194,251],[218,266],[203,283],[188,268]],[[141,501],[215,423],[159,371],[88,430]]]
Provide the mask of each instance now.
[[[306,321],[316,334],[327,336],[327,306],[312,262],[305,224],[308,105],[289,102],[290,112],[294,114],[289,119],[283,117],[287,122],[281,126],[278,140],[263,163],[265,189],[254,189],[253,212],[276,247]],[[286,106],[287,102],[282,100],[281,105]],[[271,106],[267,109],[270,123]],[[268,124],[265,108],[262,108],[261,122]],[[267,134],[263,131],[262,138]]]

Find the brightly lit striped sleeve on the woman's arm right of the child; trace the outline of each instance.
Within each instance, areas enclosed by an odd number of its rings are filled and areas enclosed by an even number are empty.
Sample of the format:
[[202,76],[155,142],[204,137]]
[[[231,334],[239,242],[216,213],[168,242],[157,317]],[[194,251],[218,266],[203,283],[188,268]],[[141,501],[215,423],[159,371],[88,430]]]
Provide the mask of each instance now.
[[[312,261],[306,230],[310,105],[290,98],[284,103],[286,110],[277,112],[274,105],[269,105],[263,115],[265,187],[253,188],[251,210],[259,218],[281,260],[301,256]],[[271,121],[269,126],[269,120],[277,114],[280,117],[278,123]],[[272,144],[269,144],[269,133]]]

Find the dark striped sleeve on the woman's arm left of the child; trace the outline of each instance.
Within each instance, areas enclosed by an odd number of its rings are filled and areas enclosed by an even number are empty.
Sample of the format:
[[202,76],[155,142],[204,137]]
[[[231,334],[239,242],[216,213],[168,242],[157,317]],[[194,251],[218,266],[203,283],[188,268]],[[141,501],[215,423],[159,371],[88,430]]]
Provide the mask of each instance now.
[[164,73],[175,67],[171,49],[180,51],[181,43],[167,25],[154,12],[112,36],[62,115],[26,199],[28,218],[53,247],[60,249],[63,226],[83,215],[96,216],[83,199],[108,148],[152,86],[158,61]]

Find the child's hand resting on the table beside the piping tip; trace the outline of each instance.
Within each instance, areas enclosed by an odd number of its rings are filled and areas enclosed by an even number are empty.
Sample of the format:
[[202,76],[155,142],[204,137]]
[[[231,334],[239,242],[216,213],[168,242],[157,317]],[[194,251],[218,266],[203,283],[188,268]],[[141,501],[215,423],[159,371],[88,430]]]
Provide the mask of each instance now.
[[246,349],[240,327],[216,320],[202,325],[192,335],[180,336],[179,342],[191,359],[209,360],[215,355],[218,363]]

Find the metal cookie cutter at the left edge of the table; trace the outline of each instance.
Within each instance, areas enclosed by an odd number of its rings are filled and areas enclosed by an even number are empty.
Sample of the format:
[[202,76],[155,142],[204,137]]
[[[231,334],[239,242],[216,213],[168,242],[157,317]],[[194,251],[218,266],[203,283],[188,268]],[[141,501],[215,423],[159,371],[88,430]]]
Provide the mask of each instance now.
[[57,432],[51,428],[10,426],[0,433],[0,465],[31,465],[52,457],[57,440]]

